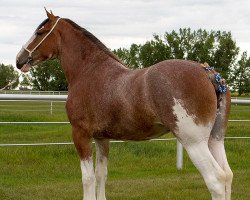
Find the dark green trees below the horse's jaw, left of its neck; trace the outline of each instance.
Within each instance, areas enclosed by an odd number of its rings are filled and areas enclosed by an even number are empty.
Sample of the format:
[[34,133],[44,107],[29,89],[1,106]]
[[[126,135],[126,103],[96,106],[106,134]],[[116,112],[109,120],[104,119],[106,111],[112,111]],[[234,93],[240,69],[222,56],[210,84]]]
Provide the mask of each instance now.
[[58,60],[48,60],[31,68],[33,89],[66,91],[68,84]]

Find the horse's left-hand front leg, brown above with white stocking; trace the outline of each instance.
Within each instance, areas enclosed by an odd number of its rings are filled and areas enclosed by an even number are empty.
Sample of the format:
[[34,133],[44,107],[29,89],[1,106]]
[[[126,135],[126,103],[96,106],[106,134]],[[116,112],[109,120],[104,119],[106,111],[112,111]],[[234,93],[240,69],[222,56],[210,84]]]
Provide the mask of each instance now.
[[83,199],[96,200],[91,133],[86,129],[73,127],[73,141],[81,160]]

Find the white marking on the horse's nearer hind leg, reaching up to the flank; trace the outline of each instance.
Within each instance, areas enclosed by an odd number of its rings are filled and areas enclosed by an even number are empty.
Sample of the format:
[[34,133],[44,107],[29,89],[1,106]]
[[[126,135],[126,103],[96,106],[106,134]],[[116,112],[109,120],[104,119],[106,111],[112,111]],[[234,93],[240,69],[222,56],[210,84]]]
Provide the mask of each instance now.
[[213,200],[225,200],[226,175],[208,148],[212,124],[196,124],[194,115],[189,115],[181,101],[174,99],[174,114],[177,118],[175,134],[187,150],[190,159],[202,174]]

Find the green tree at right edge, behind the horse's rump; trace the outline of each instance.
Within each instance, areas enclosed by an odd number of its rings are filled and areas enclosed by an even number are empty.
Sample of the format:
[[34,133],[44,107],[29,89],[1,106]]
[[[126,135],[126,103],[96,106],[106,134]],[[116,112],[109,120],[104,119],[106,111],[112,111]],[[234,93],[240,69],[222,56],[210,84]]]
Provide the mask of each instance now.
[[250,92],[250,57],[247,57],[247,52],[242,53],[234,67],[231,79],[233,89],[238,91],[239,96]]

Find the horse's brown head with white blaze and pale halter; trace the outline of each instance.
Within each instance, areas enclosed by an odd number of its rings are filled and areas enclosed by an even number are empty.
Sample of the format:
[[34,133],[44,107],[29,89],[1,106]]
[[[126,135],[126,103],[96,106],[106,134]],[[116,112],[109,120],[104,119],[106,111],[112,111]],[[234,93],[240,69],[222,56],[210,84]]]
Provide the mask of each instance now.
[[28,72],[31,66],[58,55],[59,32],[56,27],[60,18],[47,10],[46,13],[48,18],[37,27],[16,57],[16,66],[22,72]]

